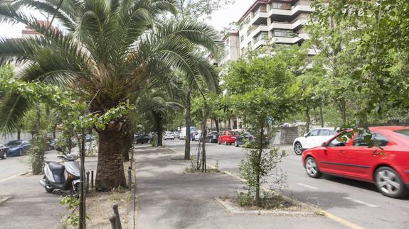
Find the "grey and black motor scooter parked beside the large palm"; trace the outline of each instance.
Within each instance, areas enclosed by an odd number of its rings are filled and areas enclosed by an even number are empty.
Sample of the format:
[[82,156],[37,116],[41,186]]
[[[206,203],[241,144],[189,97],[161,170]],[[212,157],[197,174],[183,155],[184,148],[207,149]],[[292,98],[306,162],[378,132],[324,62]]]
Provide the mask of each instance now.
[[64,162],[46,162],[44,165],[44,177],[40,180],[48,193],[58,189],[61,191],[70,190],[70,195],[78,197],[80,192],[80,164],[76,161],[78,155],[58,156]]

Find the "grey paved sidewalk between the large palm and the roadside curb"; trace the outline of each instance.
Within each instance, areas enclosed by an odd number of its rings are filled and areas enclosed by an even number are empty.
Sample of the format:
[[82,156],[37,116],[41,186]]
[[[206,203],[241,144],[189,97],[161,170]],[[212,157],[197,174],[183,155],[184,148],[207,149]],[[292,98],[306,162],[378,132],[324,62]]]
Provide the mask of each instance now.
[[190,162],[166,147],[136,147],[137,228],[344,228],[322,216],[228,213],[215,198],[244,184],[227,174],[184,173]]

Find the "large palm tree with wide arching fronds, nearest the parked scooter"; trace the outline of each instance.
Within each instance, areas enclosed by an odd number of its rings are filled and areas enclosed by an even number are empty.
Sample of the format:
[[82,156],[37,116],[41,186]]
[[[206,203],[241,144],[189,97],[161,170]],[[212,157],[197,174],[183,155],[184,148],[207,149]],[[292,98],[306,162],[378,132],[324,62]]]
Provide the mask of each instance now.
[[[64,30],[25,15],[28,8],[55,14]],[[57,11],[58,9],[58,11]],[[206,72],[202,47],[221,51],[218,33],[204,23],[160,21],[162,13],[176,13],[172,0],[20,0],[0,6],[2,21],[24,23],[41,37],[0,40],[0,65],[23,64],[18,76],[27,82],[46,82],[73,89],[89,112],[105,113],[146,86],[156,69],[184,72],[190,86]],[[203,74],[205,77],[210,74]],[[208,81],[213,78],[208,77]],[[216,83],[215,83],[216,84]],[[6,96],[0,107],[0,128],[15,130],[31,101]],[[111,121],[99,135],[96,188],[107,191],[125,185],[122,145],[127,117]]]

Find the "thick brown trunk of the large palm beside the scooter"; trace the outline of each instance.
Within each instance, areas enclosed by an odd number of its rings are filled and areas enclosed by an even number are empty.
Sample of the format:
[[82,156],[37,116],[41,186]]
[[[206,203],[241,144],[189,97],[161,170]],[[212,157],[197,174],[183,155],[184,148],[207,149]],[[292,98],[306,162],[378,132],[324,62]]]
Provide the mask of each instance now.
[[122,145],[126,138],[120,131],[99,130],[98,164],[95,189],[97,191],[110,191],[118,186],[126,187],[127,181],[124,174],[124,157]]

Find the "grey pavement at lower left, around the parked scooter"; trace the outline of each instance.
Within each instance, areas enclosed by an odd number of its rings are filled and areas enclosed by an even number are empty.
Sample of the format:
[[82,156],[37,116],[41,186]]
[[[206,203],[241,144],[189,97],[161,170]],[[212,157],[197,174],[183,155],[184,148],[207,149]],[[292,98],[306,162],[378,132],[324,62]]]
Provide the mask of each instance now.
[[[57,160],[53,152],[46,160]],[[85,168],[96,174],[97,157],[86,157]],[[38,181],[43,175],[24,175],[0,184],[0,196],[10,198],[0,204],[0,228],[43,229],[60,228],[60,219],[68,213],[67,207],[60,205],[60,196],[67,192],[46,193]]]

